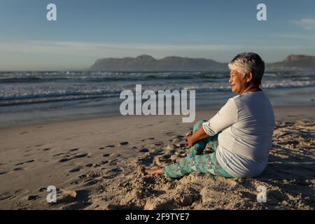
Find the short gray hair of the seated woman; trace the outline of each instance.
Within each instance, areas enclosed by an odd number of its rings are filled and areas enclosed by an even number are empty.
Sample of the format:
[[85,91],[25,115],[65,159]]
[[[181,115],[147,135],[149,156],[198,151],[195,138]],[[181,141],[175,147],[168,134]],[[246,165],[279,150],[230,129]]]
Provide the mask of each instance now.
[[229,68],[237,70],[245,76],[248,71],[253,74],[253,83],[261,84],[262,75],[265,72],[265,62],[261,57],[253,52],[243,52],[237,55],[229,63]]

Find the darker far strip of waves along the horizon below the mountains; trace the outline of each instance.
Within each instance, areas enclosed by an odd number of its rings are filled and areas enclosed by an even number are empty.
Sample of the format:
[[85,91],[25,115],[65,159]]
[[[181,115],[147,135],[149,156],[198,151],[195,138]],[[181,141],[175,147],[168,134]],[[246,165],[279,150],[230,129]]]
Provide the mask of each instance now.
[[[111,83],[115,81],[150,81],[150,80],[228,80],[228,72],[19,72],[0,73],[1,83],[52,83],[52,82],[90,82]],[[277,80],[314,79],[315,73],[283,72],[265,73],[264,79]]]

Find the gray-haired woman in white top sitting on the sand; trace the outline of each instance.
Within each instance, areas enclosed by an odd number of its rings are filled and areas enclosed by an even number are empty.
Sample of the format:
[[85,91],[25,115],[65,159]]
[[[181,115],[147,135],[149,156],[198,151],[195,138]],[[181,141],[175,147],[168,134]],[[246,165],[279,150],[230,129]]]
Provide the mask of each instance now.
[[[227,178],[249,178],[262,173],[274,130],[272,105],[259,87],[265,62],[253,52],[244,52],[228,66],[232,92],[238,95],[228,99],[213,118],[195,124],[186,138],[186,158],[161,169],[146,169],[146,173],[172,178],[191,172]],[[202,154],[207,144],[214,153]]]

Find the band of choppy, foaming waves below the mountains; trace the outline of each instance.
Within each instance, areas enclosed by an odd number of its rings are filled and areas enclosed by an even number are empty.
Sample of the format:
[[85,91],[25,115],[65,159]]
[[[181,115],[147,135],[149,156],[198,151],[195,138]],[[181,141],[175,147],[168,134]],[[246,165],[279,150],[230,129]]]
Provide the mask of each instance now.
[[[281,78],[280,76],[290,78]],[[119,97],[123,90],[229,92],[229,73],[21,72],[0,73],[0,106]],[[314,73],[265,73],[262,88],[315,86]]]

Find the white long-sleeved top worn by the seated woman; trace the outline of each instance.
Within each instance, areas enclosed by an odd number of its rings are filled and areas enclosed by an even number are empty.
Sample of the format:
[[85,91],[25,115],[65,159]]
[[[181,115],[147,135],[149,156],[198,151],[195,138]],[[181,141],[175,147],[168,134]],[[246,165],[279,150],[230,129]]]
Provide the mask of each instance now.
[[257,176],[267,166],[274,111],[265,92],[246,92],[228,99],[202,127],[209,136],[219,133],[216,158],[232,176]]

